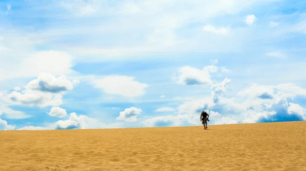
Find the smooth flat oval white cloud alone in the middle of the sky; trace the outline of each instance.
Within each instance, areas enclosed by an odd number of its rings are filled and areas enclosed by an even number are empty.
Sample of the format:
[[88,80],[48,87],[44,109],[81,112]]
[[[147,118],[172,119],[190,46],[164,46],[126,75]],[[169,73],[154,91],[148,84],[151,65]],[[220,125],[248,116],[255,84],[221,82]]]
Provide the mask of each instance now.
[[125,97],[137,97],[145,94],[147,84],[134,81],[133,77],[128,76],[106,76],[91,80],[96,87],[103,89],[107,94],[122,95]]

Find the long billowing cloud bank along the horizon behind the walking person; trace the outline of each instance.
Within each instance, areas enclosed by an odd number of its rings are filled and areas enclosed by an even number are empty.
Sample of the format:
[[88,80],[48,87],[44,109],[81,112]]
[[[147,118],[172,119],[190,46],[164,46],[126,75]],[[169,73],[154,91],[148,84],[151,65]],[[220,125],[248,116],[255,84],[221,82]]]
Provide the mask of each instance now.
[[[226,95],[230,91],[231,79],[211,86],[211,97],[185,101],[178,107],[179,114],[147,119],[146,126],[200,125],[200,112],[210,115],[210,124],[237,124],[277,121],[306,120],[306,110],[294,102],[294,98],[306,97],[306,89],[295,84],[266,86],[253,84],[233,97]],[[174,114],[174,113],[173,113]]]

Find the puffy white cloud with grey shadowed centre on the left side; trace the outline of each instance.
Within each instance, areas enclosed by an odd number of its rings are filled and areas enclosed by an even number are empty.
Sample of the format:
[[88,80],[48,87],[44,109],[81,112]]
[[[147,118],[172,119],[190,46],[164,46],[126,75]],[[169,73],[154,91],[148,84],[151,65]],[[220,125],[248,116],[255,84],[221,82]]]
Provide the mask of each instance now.
[[3,98],[12,105],[25,106],[59,106],[62,97],[79,83],[70,81],[64,76],[55,77],[51,74],[40,74],[37,79],[30,81],[21,91],[14,90]]

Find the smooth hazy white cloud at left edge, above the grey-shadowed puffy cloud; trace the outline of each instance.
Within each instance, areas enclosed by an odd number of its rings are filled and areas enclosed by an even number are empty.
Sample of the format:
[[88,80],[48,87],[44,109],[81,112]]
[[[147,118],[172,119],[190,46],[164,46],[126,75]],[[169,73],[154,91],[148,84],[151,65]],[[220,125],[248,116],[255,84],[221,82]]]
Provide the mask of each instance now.
[[[72,57],[59,51],[40,51],[32,54],[4,54],[0,59],[0,71],[10,71],[0,75],[1,80],[13,78],[31,78],[36,77],[40,73],[49,73],[52,75],[68,75],[73,73],[70,70],[72,66]],[[21,52],[20,52],[21,53]],[[17,57],[12,57],[16,55]],[[14,63],[14,65],[11,65]]]

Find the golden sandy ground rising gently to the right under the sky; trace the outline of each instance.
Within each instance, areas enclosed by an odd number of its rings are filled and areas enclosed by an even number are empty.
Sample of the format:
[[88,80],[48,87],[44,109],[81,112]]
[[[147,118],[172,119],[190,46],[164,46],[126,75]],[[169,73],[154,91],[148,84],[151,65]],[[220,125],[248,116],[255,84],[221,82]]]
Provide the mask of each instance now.
[[306,170],[306,122],[0,131],[0,170]]

